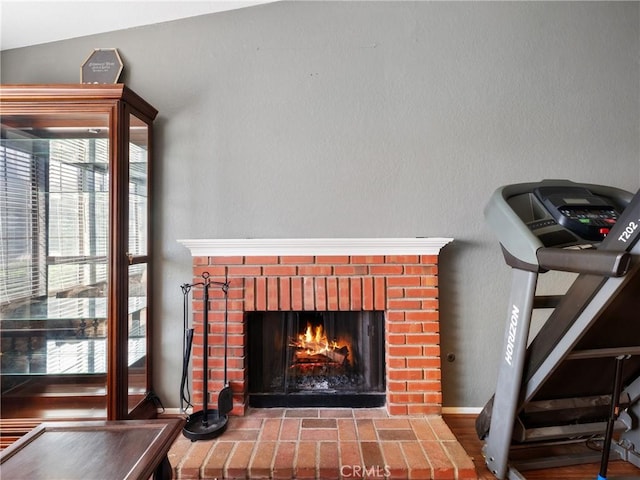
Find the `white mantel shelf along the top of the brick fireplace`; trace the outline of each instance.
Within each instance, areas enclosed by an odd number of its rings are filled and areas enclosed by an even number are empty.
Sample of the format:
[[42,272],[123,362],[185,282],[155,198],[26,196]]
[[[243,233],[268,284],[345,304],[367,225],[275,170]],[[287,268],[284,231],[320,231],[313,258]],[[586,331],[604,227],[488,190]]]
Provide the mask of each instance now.
[[453,238],[184,239],[193,257],[257,255],[437,255]]

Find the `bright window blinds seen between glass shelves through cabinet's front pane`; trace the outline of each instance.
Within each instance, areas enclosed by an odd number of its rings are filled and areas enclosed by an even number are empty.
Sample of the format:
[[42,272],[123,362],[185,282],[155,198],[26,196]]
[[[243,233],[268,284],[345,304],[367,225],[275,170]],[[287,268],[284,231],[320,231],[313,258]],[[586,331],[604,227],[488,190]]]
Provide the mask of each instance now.
[[0,304],[106,282],[108,152],[107,139],[2,140]]

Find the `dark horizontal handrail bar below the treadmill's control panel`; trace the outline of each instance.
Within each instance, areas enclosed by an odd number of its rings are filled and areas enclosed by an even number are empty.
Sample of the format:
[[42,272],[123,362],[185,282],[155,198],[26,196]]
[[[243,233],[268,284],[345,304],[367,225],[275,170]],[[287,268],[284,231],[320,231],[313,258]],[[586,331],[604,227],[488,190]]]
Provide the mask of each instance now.
[[536,251],[538,264],[545,270],[622,277],[629,271],[631,254],[606,250],[569,250],[543,247]]

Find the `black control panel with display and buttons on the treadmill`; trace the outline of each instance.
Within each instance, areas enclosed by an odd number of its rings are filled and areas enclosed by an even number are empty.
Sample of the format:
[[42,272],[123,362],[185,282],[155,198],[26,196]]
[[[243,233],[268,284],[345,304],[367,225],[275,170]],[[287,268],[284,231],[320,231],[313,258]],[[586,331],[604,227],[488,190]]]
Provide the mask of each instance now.
[[587,188],[538,187],[533,193],[556,222],[585,240],[602,241],[619,217],[610,200]]

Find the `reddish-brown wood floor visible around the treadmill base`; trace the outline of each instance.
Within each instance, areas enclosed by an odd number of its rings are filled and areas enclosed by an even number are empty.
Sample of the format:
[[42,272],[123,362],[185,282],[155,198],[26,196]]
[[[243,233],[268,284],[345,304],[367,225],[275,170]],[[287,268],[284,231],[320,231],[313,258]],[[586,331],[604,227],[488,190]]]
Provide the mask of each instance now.
[[[495,480],[489,472],[482,457],[482,442],[475,431],[475,415],[443,415],[446,424],[458,439],[458,442],[473,459],[478,479]],[[527,480],[595,480],[598,477],[600,464],[587,464],[572,467],[530,470],[523,473]],[[607,471],[609,480],[640,480],[640,469],[620,460],[611,461]]]

